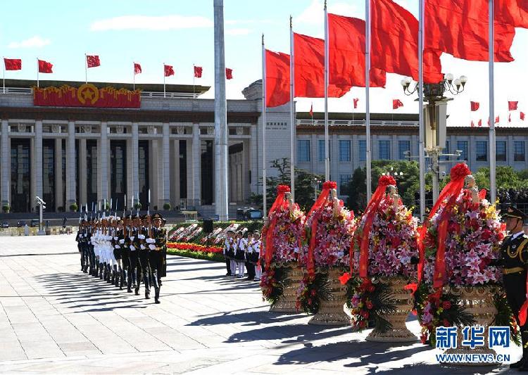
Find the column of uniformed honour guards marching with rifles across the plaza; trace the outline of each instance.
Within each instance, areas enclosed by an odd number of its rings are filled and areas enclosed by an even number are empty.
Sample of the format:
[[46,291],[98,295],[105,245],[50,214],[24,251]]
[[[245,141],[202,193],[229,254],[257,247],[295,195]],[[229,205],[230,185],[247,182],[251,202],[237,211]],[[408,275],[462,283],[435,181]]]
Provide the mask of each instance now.
[[145,298],[154,288],[154,302],[160,303],[161,278],[167,272],[165,219],[159,214],[137,213],[120,218],[86,216],[80,221],[77,248],[81,271],[139,295],[143,282]]

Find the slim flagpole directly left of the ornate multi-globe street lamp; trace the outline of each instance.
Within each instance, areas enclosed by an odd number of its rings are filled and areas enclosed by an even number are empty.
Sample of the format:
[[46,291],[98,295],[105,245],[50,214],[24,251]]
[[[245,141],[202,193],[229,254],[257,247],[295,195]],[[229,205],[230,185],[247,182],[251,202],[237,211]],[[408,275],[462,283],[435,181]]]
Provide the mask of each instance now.
[[425,148],[424,148],[424,0],[418,1],[418,164],[420,167],[420,220],[425,219]]

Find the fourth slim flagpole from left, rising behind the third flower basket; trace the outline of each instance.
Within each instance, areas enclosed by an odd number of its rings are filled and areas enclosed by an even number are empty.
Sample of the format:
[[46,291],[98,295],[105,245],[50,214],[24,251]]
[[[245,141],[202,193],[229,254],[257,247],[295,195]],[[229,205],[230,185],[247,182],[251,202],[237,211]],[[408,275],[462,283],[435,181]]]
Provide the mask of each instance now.
[[370,0],[365,0],[365,127],[367,128],[367,201],[372,196],[370,155]]

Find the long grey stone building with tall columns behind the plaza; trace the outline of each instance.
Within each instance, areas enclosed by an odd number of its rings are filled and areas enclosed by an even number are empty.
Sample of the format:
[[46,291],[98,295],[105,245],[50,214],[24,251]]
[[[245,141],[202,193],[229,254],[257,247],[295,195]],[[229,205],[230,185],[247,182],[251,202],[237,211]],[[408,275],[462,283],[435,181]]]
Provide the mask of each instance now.
[[[136,85],[141,108],[70,108],[34,106],[32,81],[6,80],[0,91],[0,201],[12,212],[35,210],[34,197],[46,201],[46,211],[70,205],[118,202],[125,196],[146,208],[167,203],[180,210],[214,215],[214,101],[199,96],[208,87]],[[49,82],[49,85],[83,82]],[[44,82],[41,82],[41,86]],[[127,84],[95,84],[128,88]],[[229,128],[230,208],[252,193],[262,193],[261,82],[244,89],[243,100],[227,101]],[[331,113],[329,151],[331,178],[348,182],[365,165],[364,115]],[[372,159],[405,159],[417,155],[417,115],[372,114]],[[268,159],[289,158],[289,106],[269,108],[266,120]],[[324,174],[322,114],[296,114],[296,165]],[[488,164],[487,131],[449,127],[447,150],[462,151],[472,170]],[[528,169],[528,131],[497,128],[497,165]],[[445,151],[444,151],[445,152]],[[268,160],[268,163],[269,163]],[[268,175],[272,175],[268,165]],[[232,213],[231,213],[232,215]]]

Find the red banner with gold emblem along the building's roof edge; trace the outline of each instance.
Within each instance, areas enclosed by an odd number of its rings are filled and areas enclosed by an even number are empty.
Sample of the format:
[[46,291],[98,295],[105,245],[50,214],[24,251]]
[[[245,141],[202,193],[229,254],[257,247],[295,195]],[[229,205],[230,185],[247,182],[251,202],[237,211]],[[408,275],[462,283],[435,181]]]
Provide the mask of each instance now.
[[82,84],[78,89],[64,85],[61,87],[33,88],[34,106],[52,107],[92,107],[92,108],[139,108],[141,91]]

